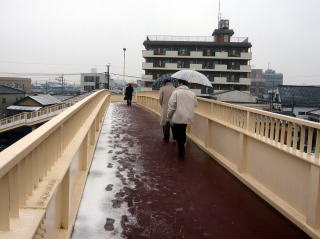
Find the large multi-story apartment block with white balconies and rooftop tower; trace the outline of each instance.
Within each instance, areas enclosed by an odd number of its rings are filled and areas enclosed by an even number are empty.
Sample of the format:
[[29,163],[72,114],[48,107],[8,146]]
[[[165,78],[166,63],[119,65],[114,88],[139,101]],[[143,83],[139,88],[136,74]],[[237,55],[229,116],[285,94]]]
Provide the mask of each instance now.
[[215,91],[249,92],[251,43],[233,34],[229,20],[220,20],[219,28],[208,37],[147,36],[142,51],[145,86],[163,74],[193,69],[206,75]]

